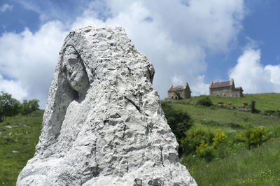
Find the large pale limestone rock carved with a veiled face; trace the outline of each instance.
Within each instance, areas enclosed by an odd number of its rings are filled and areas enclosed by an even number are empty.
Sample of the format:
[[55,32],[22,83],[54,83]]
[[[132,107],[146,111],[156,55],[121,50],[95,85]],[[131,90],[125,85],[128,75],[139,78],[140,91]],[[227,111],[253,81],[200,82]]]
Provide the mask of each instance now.
[[70,31],[17,185],[196,185],[179,163],[154,72],[120,27]]

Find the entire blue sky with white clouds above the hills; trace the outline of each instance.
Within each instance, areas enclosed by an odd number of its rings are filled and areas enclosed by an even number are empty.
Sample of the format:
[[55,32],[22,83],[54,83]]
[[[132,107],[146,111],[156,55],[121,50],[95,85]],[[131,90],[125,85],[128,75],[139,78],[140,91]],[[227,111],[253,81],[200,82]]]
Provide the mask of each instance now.
[[123,27],[155,68],[160,98],[234,78],[245,94],[280,92],[278,0],[0,0],[0,90],[45,108],[59,50],[77,27]]

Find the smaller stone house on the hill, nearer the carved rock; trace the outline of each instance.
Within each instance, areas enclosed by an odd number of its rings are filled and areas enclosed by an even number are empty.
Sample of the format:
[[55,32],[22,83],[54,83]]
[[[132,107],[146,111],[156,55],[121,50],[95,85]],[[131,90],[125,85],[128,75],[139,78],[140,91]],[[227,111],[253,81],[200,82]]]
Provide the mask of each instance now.
[[173,87],[171,85],[168,89],[168,98],[169,99],[186,99],[190,98],[190,87],[188,86],[188,83],[184,86],[176,86]]

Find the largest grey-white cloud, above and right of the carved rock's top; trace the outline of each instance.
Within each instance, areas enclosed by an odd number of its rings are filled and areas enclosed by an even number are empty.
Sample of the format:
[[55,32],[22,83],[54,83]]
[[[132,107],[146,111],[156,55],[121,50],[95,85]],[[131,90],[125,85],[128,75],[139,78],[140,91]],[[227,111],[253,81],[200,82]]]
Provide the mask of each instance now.
[[[172,83],[190,83],[194,95],[207,94],[205,51],[227,52],[241,30],[243,1],[106,1],[91,3],[73,27],[114,24],[125,28],[136,48],[155,66],[154,85],[161,97]],[[123,6],[125,4],[126,6]],[[104,22],[105,14],[110,15]],[[172,8],[170,8],[172,7]],[[148,17],[148,19],[147,19]],[[146,21],[148,20],[148,21]],[[174,81],[174,78],[180,80]],[[173,78],[173,79],[172,79]]]

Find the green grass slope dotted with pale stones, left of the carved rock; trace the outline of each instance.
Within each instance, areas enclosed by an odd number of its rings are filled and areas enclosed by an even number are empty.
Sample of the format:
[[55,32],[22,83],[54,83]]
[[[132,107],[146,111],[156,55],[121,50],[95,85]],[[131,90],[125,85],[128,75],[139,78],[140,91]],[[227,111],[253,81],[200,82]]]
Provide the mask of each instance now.
[[0,123],[0,185],[15,185],[18,174],[34,156],[42,117],[43,110],[37,110],[31,117],[17,115]]

